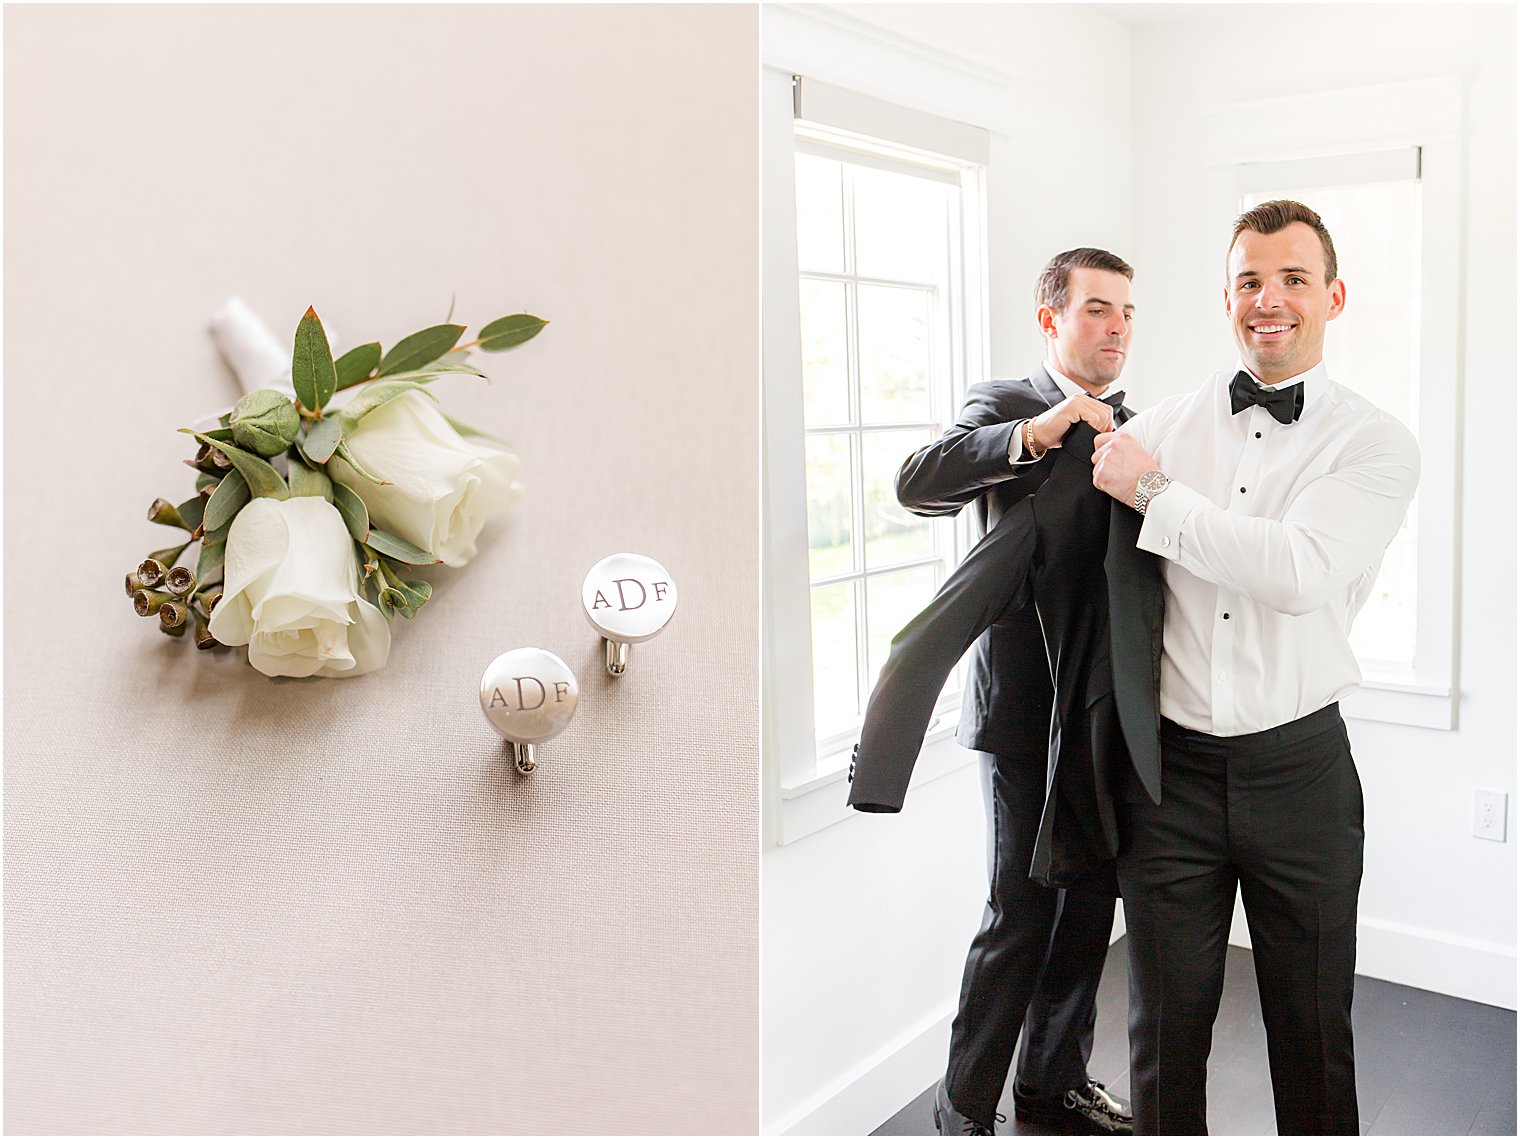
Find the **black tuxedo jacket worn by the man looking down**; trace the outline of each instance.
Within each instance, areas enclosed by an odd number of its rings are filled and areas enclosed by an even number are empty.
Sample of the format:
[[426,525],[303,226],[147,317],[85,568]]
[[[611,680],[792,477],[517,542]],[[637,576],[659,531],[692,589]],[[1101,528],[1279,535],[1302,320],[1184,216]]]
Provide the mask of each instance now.
[[[897,473],[898,502],[923,516],[956,514],[974,503],[977,531],[986,534],[1052,468],[1052,459],[1009,467],[1014,421],[1064,398],[1044,366],[1024,380],[973,385],[950,429]],[[977,751],[1041,762],[1052,696],[1040,622],[1021,596],[976,642],[956,739]]]

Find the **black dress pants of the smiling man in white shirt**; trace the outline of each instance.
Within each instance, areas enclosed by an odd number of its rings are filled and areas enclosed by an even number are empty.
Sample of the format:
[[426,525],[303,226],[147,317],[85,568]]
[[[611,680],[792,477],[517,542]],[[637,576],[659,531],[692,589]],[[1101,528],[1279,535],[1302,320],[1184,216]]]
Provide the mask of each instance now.
[[1339,707],[1248,736],[1163,721],[1161,803],[1129,798],[1119,885],[1135,1133],[1208,1130],[1208,1049],[1239,885],[1278,1134],[1356,1134],[1362,785]]

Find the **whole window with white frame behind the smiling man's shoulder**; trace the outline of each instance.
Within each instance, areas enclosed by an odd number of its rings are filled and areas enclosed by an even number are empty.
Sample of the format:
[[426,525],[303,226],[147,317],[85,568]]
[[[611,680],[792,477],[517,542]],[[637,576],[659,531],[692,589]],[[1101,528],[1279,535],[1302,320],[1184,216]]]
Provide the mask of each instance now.
[[1347,281],[1325,363],[1420,441],[1420,488],[1353,630],[1362,687],[1342,709],[1447,730],[1459,706],[1461,122],[1461,84],[1424,79],[1236,103],[1202,123],[1218,225],[1269,198],[1325,219]]

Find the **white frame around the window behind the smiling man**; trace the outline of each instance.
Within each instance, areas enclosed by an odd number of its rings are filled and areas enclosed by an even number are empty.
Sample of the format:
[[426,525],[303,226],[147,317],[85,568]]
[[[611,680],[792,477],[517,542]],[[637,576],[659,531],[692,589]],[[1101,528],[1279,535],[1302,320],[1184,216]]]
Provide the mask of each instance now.
[[[1290,129],[1275,126],[1292,123]],[[1461,85],[1456,79],[1234,103],[1204,117],[1214,228],[1227,230],[1242,192],[1344,184],[1418,149],[1420,328],[1415,417],[1420,438],[1415,655],[1398,672],[1363,669],[1342,709],[1356,719],[1453,730],[1459,704],[1458,424],[1461,374]],[[1354,284],[1354,266],[1342,266]],[[1333,332],[1332,332],[1333,335]]]

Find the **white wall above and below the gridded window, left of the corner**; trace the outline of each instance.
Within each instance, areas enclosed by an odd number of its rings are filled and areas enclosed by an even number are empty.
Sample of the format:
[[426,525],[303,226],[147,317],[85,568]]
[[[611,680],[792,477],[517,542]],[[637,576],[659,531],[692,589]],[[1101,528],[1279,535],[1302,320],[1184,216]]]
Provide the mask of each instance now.
[[[1040,266],[1075,245],[1128,257],[1129,32],[1075,6],[844,11],[942,62],[950,53],[1006,78],[1003,105],[986,111],[1008,128],[990,149],[991,353],[994,376],[1026,376],[1041,359]],[[1075,56],[1079,84],[1062,75]],[[1094,140],[1100,178],[1087,173]],[[977,768],[962,766],[915,786],[901,815],[853,815],[765,850],[765,1131],[868,1133],[942,1071],[985,900],[983,818]]]

